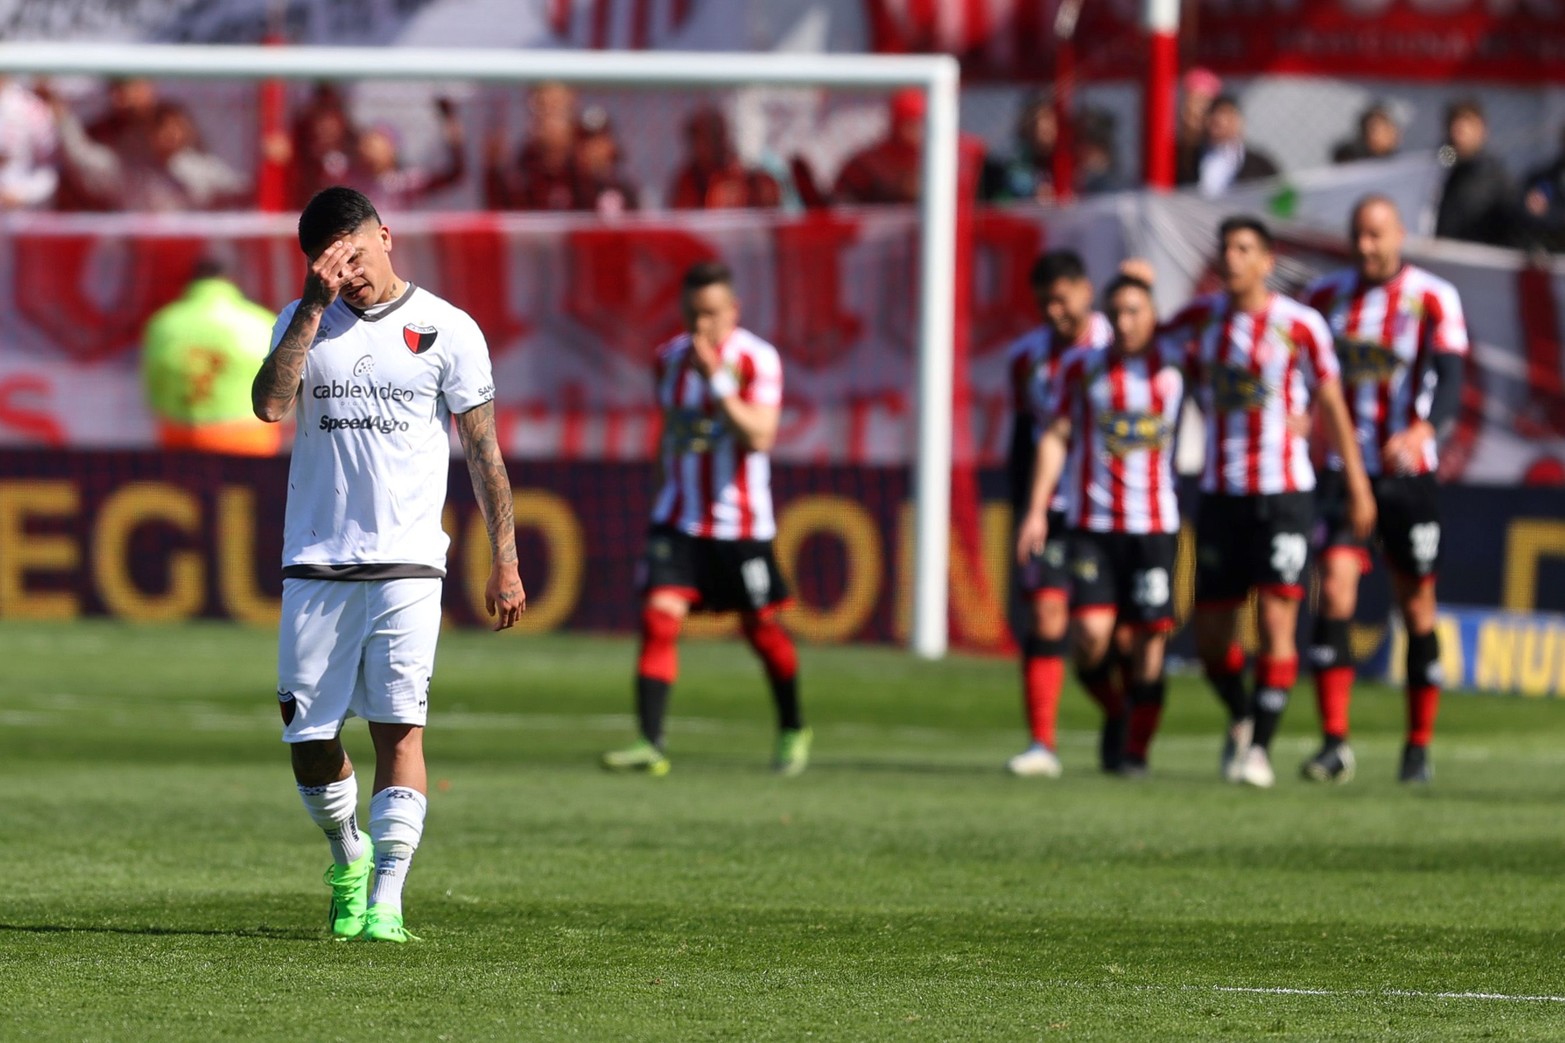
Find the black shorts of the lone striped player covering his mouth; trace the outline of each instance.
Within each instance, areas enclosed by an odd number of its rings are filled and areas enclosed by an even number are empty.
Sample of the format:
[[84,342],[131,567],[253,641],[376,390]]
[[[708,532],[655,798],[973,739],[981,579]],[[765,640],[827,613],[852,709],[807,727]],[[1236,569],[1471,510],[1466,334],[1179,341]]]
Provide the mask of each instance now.
[[772,540],[711,540],[654,525],[640,592],[676,590],[696,612],[753,612],[789,600]]

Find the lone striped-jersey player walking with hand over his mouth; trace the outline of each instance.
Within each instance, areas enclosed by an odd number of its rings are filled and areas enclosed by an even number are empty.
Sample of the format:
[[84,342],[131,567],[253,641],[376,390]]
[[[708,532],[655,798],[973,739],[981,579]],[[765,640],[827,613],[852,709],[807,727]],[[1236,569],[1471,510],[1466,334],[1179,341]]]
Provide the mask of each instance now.
[[761,658],[778,713],[773,766],[797,775],[809,764],[811,731],[798,700],[798,656],[778,611],[787,584],[772,553],[772,462],[782,410],[776,348],[739,326],[726,265],[703,262],[684,279],[689,332],[657,349],[656,393],[664,413],[659,489],[642,561],[642,651],[635,669],[640,738],[604,753],[610,771],[668,774],[664,717],[678,673],[685,615],[739,612]]

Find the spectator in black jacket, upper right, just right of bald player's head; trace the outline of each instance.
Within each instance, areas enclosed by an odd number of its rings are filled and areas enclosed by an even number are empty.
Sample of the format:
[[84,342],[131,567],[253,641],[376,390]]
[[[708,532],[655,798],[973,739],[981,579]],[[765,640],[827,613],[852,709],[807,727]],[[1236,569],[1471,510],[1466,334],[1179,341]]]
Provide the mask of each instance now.
[[1510,246],[1516,232],[1515,189],[1504,164],[1485,150],[1488,124],[1474,99],[1446,108],[1446,144],[1440,161],[1451,168],[1435,235],[1446,240]]

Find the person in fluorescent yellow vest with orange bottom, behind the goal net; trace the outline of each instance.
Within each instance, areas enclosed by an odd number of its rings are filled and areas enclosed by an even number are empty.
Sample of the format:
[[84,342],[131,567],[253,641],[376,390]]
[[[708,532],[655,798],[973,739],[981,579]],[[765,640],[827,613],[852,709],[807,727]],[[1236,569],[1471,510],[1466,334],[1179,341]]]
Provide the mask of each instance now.
[[164,449],[275,456],[277,424],[250,410],[250,381],[272,343],[272,313],[244,298],[214,262],[142,330],[141,377]]

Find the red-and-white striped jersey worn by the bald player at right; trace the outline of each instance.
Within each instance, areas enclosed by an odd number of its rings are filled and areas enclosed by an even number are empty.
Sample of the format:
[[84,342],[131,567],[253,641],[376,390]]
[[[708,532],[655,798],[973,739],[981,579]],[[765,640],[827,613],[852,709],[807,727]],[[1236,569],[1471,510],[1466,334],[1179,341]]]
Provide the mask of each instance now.
[[[1468,351],[1457,288],[1413,265],[1404,265],[1383,283],[1365,282],[1349,268],[1310,283],[1304,301],[1332,327],[1358,451],[1365,470],[1380,475],[1387,438],[1429,417],[1435,354]],[[1424,475],[1438,464],[1430,438],[1410,473]],[[1327,465],[1341,468],[1343,459],[1332,453]]]

